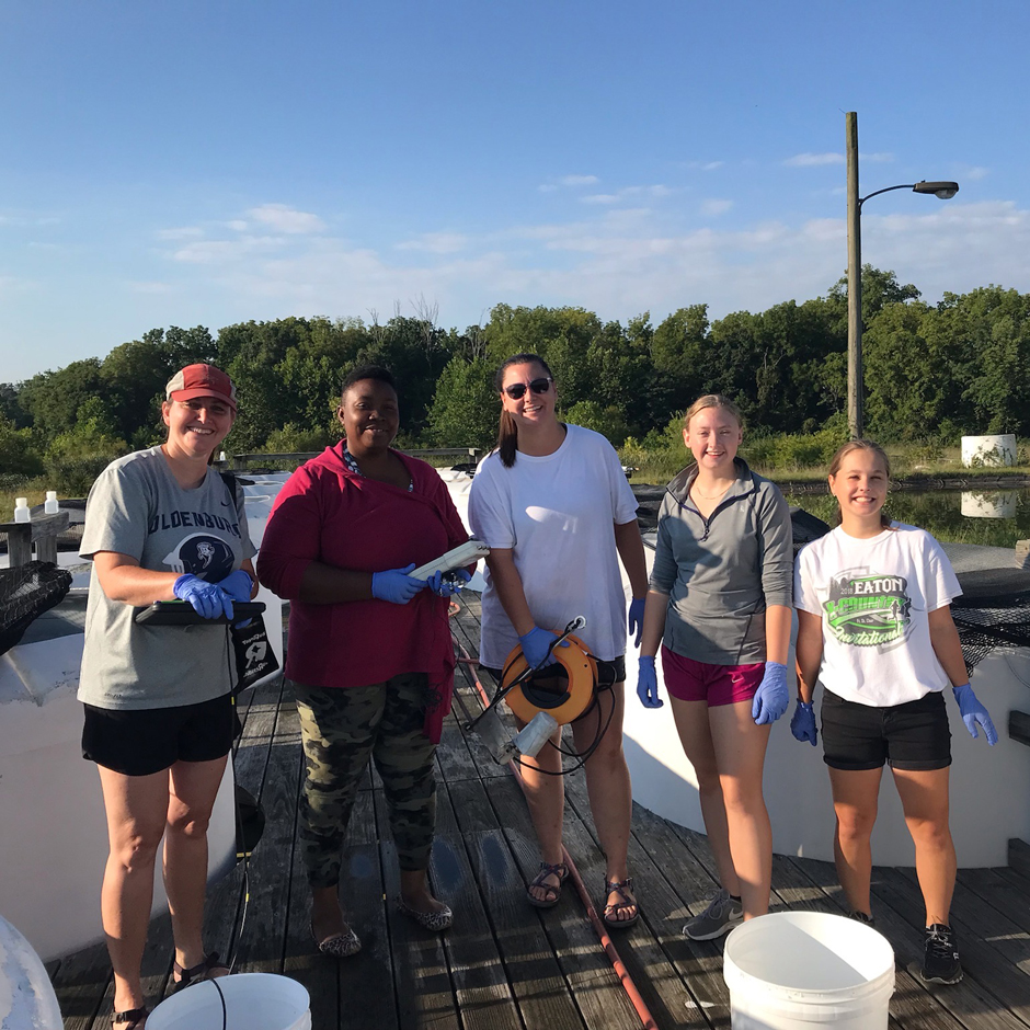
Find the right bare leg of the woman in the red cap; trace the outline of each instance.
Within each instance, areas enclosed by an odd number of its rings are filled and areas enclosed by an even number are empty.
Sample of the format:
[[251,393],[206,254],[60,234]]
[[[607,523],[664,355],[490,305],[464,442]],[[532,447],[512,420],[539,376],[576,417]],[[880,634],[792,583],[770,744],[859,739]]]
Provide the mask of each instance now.
[[169,770],[171,797],[164,836],[164,891],[172,914],[175,961],[190,969],[204,961],[207,827],[228,756],[176,762]]

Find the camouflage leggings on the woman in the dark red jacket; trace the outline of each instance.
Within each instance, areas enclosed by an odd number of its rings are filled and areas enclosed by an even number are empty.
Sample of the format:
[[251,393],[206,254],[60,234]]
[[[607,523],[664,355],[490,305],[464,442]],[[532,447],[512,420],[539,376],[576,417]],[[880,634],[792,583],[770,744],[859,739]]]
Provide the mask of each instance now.
[[382,779],[398,862],[403,870],[425,869],[436,826],[436,745],[422,732],[425,674],[368,687],[293,687],[305,754],[300,846],[311,886],[340,881],[343,840],[369,755]]

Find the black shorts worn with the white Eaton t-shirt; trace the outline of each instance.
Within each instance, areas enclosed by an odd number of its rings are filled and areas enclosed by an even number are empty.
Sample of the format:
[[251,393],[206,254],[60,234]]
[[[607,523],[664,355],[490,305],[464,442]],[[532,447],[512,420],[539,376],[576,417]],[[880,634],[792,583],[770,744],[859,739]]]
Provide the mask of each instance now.
[[917,701],[873,708],[823,691],[823,762],[833,769],[925,771],[951,765],[945,698],[931,690]]

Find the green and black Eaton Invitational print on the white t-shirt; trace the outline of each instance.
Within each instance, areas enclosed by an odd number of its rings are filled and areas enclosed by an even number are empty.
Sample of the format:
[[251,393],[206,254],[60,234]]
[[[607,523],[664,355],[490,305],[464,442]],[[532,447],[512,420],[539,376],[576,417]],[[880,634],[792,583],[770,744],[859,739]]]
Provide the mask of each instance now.
[[823,604],[829,631],[855,648],[903,641],[912,622],[907,581],[900,575],[858,574],[866,571],[849,570],[831,580],[829,598]]

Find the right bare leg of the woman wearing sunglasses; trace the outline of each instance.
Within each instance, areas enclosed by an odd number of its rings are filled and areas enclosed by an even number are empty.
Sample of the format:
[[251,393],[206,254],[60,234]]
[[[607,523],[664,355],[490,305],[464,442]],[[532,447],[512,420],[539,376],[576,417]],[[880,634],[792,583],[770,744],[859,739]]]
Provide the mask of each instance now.
[[[594,743],[599,730],[608,724],[597,749],[587,759],[585,767],[586,792],[591,800],[597,836],[600,838],[600,848],[605,852],[605,877],[608,881],[622,881],[629,874],[626,854],[629,848],[633,800],[629,768],[622,754],[623,703],[625,684],[614,684],[610,690],[598,693],[597,705],[593,711],[572,728],[576,751],[582,753]],[[636,907],[625,902],[620,904],[619,895],[615,891],[608,895],[606,904],[618,906],[609,918],[630,919],[636,915]]]

